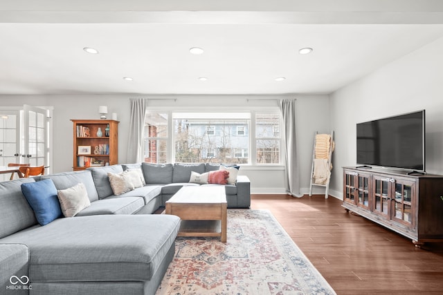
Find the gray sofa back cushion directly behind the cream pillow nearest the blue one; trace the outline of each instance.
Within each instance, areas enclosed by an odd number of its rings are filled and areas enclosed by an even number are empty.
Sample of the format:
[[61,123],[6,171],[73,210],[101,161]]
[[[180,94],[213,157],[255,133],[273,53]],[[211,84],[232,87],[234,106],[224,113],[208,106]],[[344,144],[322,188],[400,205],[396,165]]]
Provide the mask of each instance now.
[[98,192],[92,178],[91,171],[70,171],[62,172],[51,175],[43,175],[42,180],[51,179],[54,182],[57,190],[69,189],[79,183],[84,184],[86,191],[88,192],[89,201],[93,202],[98,200]]

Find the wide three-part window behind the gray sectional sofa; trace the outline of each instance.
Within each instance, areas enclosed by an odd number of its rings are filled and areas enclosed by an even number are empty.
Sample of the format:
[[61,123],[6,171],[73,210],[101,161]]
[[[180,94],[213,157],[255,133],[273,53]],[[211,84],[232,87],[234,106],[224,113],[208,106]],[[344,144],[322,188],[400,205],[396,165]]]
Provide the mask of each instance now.
[[150,112],[144,140],[145,162],[280,164],[280,113]]

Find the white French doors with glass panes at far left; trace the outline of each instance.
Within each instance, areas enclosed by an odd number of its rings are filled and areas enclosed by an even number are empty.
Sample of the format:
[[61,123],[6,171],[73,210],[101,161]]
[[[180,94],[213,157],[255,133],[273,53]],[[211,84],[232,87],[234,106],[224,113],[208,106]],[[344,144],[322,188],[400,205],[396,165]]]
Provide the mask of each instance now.
[[[27,105],[15,110],[0,108],[0,166],[9,163],[44,165],[48,171],[50,112]],[[0,175],[0,180],[7,180],[6,176]]]

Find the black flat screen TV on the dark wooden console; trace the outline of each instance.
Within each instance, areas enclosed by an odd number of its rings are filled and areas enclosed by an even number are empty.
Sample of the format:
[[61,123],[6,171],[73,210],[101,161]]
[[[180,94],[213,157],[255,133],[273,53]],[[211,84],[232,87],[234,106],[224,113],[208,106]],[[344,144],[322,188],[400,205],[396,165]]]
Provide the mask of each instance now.
[[424,110],[357,124],[357,164],[424,172]]

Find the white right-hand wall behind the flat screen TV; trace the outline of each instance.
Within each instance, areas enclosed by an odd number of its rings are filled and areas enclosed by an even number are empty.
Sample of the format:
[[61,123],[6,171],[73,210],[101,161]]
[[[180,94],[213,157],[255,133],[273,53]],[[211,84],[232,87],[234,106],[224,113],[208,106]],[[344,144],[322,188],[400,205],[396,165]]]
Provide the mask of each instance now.
[[356,164],[356,123],[426,110],[426,172],[443,174],[443,38],[336,91],[331,193],[343,199],[341,166]]

